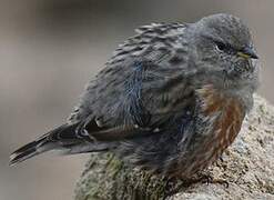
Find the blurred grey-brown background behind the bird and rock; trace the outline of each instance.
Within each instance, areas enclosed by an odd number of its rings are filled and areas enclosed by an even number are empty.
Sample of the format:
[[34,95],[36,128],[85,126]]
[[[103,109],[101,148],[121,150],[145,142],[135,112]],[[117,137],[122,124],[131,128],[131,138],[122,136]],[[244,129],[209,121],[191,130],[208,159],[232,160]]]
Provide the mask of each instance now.
[[274,103],[273,9],[273,0],[0,0],[0,200],[73,199],[88,156],[9,168],[9,153],[63,123],[88,80],[141,24],[241,17],[262,62],[260,93]]

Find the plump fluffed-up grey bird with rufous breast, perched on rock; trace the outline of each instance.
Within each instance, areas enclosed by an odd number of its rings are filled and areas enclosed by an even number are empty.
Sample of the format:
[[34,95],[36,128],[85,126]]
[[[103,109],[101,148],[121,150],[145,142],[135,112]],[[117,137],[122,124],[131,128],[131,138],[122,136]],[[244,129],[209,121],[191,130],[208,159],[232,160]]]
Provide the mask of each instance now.
[[247,26],[215,13],[135,32],[91,79],[67,121],[16,150],[11,166],[51,150],[113,152],[133,168],[187,178],[221,157],[260,84]]

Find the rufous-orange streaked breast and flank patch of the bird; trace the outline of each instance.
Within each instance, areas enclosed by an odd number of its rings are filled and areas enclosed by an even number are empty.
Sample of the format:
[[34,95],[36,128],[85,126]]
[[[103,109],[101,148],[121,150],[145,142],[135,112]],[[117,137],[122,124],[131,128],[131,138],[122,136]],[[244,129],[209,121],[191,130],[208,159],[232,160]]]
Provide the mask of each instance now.
[[234,141],[241,130],[245,111],[237,98],[227,97],[212,86],[199,89],[200,116],[204,123],[201,126],[201,140],[195,150],[194,160],[199,160],[193,169],[203,169],[216,160]]

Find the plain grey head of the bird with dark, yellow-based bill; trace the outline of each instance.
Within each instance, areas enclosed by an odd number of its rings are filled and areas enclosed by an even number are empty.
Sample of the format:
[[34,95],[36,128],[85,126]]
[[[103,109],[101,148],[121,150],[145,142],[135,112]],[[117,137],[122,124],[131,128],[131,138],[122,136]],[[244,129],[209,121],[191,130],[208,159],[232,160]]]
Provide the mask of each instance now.
[[204,81],[222,89],[257,88],[258,57],[248,28],[231,14],[202,18],[187,29],[191,60],[203,71]]

